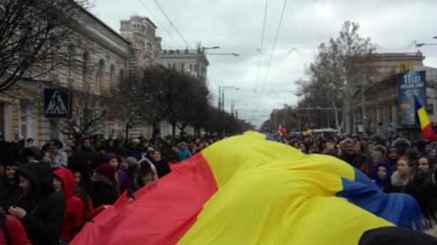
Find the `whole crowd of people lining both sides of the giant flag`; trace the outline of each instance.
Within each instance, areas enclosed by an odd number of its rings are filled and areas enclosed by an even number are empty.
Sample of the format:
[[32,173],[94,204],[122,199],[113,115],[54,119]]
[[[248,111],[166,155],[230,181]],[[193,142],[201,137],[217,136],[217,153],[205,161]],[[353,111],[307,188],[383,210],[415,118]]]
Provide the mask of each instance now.
[[[428,227],[437,221],[437,145],[406,138],[272,135],[305,154],[339,158],[369,176],[384,192],[413,196]],[[80,143],[0,136],[0,244],[68,244],[120,195],[172,171],[217,137],[105,139]],[[242,149],[243,150],[243,149]]]

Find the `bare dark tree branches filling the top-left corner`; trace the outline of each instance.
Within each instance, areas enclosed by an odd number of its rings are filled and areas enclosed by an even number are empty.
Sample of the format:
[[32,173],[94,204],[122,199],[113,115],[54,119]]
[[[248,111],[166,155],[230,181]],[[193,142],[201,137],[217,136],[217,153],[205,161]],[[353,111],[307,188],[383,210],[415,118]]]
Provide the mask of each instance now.
[[0,92],[72,59],[72,35],[87,0],[0,0]]

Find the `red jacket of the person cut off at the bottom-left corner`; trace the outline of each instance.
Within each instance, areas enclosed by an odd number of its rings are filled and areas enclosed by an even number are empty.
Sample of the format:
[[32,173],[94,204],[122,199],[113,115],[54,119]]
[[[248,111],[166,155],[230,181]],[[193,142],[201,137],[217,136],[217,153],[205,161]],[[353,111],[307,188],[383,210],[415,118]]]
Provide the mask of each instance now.
[[6,215],[5,221],[6,231],[8,232],[7,236],[9,236],[11,244],[7,243],[3,229],[0,229],[0,245],[32,245],[26,235],[26,230],[24,229],[23,224],[21,224],[16,217]]

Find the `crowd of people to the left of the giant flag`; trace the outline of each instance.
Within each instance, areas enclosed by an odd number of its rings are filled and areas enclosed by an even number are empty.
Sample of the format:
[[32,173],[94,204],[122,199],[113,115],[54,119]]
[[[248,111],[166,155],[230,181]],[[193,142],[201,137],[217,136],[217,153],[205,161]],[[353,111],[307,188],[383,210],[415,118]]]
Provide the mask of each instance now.
[[0,136],[0,244],[68,244],[120,195],[163,178],[170,165],[190,158],[216,137],[153,141],[105,139],[80,143]]

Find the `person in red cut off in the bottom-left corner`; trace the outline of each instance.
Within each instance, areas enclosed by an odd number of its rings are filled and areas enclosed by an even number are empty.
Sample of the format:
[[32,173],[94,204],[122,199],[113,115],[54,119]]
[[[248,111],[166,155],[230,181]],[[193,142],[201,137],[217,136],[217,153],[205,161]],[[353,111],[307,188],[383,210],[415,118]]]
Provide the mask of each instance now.
[[0,207],[0,245],[32,245],[23,224]]

